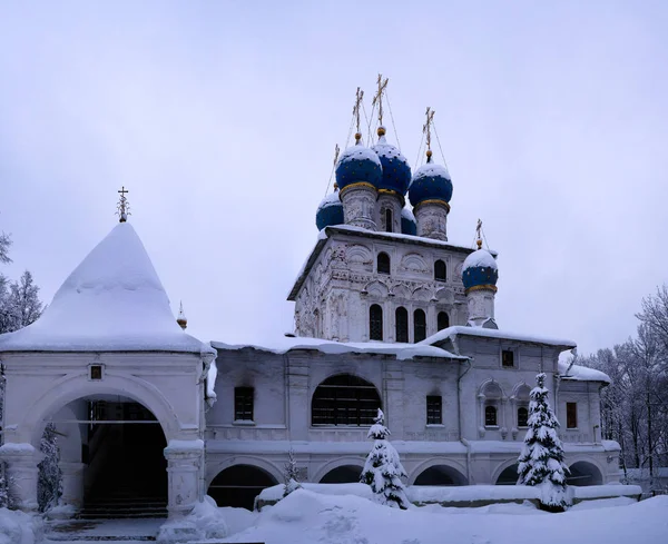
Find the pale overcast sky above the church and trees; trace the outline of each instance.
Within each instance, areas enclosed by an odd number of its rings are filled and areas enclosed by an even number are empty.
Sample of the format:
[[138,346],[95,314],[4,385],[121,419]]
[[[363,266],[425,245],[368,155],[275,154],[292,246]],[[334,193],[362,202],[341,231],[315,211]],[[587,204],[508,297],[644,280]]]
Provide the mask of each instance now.
[[125,185],[189,332],[291,330],[334,145],[382,72],[411,165],[436,111],[449,237],[482,218],[500,327],[623,342],[668,280],[667,28],[661,1],[2,2],[2,271],[50,301]]

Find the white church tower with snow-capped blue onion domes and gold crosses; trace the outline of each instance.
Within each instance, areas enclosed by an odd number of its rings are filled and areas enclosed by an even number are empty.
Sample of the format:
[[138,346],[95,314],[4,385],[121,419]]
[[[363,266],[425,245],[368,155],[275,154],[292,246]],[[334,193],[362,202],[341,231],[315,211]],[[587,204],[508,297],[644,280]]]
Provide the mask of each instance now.
[[[379,76],[377,85],[377,142],[371,148],[362,142],[363,93],[357,89],[355,145],[336,162],[335,190],[316,212],[318,241],[288,295],[295,301],[295,334],[415,343],[451,325],[495,327],[498,274],[480,284],[477,266],[482,254],[495,266],[494,256],[448,241],[452,180],[448,168],[433,160],[434,112],[426,109],[423,128],[426,162],[412,175],[386,139],[387,80]],[[466,260],[470,254],[474,260]]]

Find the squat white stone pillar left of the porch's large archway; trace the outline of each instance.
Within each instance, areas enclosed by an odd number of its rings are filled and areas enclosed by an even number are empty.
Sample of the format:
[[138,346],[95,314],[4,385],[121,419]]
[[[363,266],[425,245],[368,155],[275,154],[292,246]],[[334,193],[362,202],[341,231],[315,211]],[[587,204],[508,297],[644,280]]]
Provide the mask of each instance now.
[[37,512],[37,465],[41,457],[32,444],[10,442],[0,447],[0,459],[7,463],[9,495],[23,512]]

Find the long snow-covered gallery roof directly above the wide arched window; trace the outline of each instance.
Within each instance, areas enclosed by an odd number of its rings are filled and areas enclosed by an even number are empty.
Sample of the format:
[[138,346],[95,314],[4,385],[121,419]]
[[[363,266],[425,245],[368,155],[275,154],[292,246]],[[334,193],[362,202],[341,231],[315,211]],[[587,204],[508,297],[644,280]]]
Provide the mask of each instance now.
[[466,359],[460,355],[451,354],[440,347],[418,344],[402,343],[382,343],[382,342],[333,342],[322,338],[307,337],[277,337],[264,342],[262,345],[255,344],[225,344],[223,342],[212,342],[212,346],[219,350],[236,350],[244,348],[259,349],[274,354],[284,354],[295,349],[315,349],[324,354],[374,354],[374,355],[394,355],[399,360],[412,359],[414,357],[439,357],[443,359]]

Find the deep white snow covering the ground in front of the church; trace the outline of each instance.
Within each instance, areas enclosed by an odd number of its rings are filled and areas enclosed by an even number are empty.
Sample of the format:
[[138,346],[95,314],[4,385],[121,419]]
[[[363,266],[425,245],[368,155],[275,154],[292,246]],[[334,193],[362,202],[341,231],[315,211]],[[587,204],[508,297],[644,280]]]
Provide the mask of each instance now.
[[[666,544],[668,496],[635,502],[629,497],[590,501],[563,514],[547,514],[530,503],[480,508],[439,505],[399,511],[353,495],[323,495],[298,489],[261,513],[219,508],[228,537],[215,542],[266,544]],[[1,512],[1,511],[0,511]],[[24,521],[17,513],[0,522]],[[153,527],[157,531],[157,523]],[[137,522],[114,522],[118,536],[132,534]],[[3,532],[0,544],[33,544]],[[148,528],[144,527],[144,528]],[[127,536],[126,536],[127,538]],[[80,544],[60,541],[59,544]],[[111,544],[114,541],[106,541]],[[47,544],[45,542],[45,544]],[[129,544],[125,541],[124,544]]]

